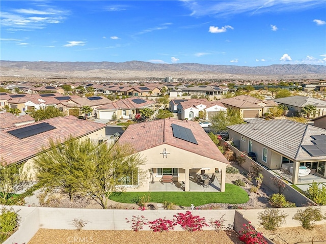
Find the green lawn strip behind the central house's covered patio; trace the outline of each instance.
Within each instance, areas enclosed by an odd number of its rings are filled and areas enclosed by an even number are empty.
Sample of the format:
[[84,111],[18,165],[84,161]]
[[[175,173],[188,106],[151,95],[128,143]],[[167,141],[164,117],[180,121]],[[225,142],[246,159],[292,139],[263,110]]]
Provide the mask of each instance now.
[[132,203],[132,198],[150,195],[150,202],[174,202],[175,205],[195,206],[207,203],[246,203],[249,196],[242,188],[233,184],[226,184],[225,192],[116,192],[110,199],[116,202]]

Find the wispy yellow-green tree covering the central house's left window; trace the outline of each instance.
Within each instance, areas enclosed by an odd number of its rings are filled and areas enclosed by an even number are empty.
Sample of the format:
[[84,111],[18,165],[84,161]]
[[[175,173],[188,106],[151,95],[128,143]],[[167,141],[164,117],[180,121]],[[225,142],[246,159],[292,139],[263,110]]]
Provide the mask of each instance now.
[[123,191],[124,185],[138,186],[145,176],[145,160],[129,144],[101,143],[89,155],[79,175],[80,189],[102,208],[113,192]]

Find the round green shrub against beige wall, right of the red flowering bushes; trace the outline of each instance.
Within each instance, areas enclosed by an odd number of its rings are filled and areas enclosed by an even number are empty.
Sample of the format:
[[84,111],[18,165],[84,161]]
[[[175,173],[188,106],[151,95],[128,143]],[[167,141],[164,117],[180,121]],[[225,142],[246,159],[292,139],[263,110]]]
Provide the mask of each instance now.
[[259,224],[261,224],[266,230],[276,230],[281,224],[285,224],[285,218],[287,217],[284,212],[279,209],[266,209],[263,212],[258,212]]

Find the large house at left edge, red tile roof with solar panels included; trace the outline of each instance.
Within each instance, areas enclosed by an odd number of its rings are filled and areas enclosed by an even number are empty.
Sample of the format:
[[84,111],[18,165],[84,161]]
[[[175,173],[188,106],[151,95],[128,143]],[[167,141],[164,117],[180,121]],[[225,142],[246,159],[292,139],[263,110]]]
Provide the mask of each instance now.
[[49,139],[64,142],[72,135],[74,138],[90,138],[103,141],[105,124],[77,119],[74,116],[55,117],[15,128],[0,131],[0,155],[2,163],[23,164],[24,170],[35,179],[33,158],[44,148],[49,147]]

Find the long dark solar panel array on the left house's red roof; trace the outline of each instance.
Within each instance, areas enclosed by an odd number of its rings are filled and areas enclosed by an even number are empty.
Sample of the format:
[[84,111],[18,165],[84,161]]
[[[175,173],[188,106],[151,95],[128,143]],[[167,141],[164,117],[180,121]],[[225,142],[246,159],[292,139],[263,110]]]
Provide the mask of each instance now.
[[33,126],[27,126],[27,127],[23,127],[20,129],[16,129],[16,130],[12,130],[12,131],[8,131],[9,134],[19,138],[19,139],[23,139],[26,137],[30,137],[30,136],[35,136],[38,135],[40,133],[46,132],[46,131],[50,131],[56,129],[56,127],[49,125],[48,123],[40,123],[37,125],[33,125]]

